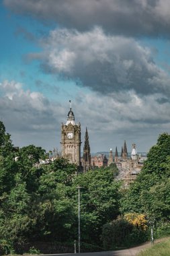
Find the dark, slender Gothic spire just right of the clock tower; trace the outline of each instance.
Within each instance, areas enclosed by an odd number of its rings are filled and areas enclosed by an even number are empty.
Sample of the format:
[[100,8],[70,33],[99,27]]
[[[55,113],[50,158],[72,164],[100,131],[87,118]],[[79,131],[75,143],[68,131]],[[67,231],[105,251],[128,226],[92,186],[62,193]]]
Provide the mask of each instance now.
[[85,145],[83,148],[83,172],[87,172],[87,170],[91,169],[91,154],[90,154],[90,146],[89,146],[89,135],[87,132],[87,127],[85,131]]

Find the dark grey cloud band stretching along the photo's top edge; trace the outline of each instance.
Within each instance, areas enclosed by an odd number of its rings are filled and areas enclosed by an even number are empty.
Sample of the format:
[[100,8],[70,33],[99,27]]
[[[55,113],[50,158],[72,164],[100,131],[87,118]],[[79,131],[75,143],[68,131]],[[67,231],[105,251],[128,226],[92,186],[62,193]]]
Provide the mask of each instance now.
[[126,36],[168,36],[169,0],[3,0],[17,13],[44,22],[89,30],[94,25]]

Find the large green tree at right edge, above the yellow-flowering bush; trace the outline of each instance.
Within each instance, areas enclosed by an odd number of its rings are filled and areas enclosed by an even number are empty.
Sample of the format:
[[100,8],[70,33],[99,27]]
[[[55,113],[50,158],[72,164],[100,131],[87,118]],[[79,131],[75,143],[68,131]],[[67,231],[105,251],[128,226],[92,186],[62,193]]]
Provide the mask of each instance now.
[[170,217],[170,135],[159,136],[157,145],[148,152],[148,159],[136,181],[125,191],[122,212],[140,212],[160,220]]

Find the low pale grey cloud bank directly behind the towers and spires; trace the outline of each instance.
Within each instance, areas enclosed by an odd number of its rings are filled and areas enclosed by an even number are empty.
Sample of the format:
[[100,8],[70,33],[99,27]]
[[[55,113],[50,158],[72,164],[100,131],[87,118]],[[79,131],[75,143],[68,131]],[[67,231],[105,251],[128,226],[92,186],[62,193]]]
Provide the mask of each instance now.
[[[43,94],[26,91],[14,81],[1,83],[0,92],[0,118],[15,146],[34,143],[46,150],[60,148],[60,125],[67,121],[69,101],[49,102]],[[140,98],[134,91],[103,96],[79,93],[73,111],[76,123],[81,122],[82,141],[87,127],[92,152],[120,147],[124,139],[129,147],[136,142],[138,150],[148,150],[170,125],[170,104],[159,104],[161,97]]]

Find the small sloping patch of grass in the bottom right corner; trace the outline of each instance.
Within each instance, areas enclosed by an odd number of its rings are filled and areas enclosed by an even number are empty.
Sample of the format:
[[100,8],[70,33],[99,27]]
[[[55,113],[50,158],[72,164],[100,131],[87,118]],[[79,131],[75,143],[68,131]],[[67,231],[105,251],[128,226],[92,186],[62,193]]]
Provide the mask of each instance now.
[[169,256],[170,239],[153,245],[153,247],[141,251],[138,256]]

